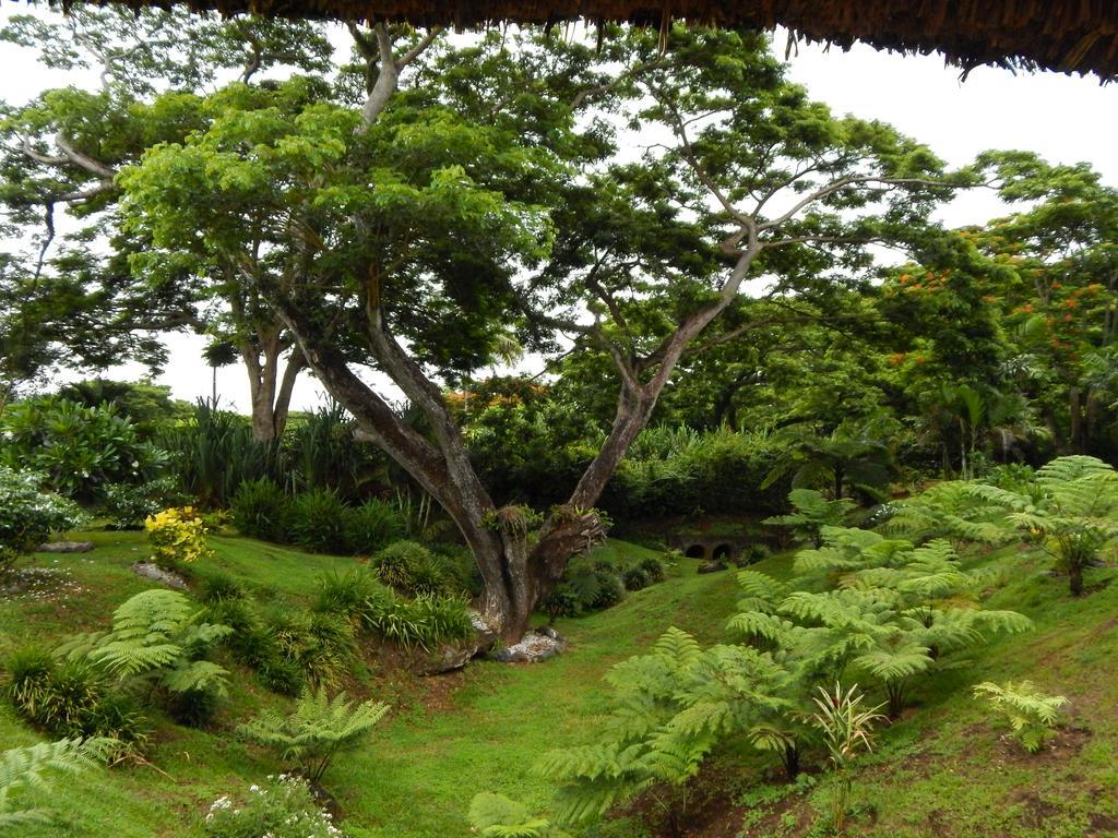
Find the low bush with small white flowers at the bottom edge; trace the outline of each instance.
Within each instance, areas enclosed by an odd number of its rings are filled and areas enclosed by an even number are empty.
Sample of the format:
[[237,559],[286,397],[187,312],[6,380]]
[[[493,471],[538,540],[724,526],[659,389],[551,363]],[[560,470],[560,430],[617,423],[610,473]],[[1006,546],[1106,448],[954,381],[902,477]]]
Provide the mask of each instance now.
[[210,803],[201,829],[206,838],[344,838],[306,780],[293,774],[253,784],[236,802],[222,794]]

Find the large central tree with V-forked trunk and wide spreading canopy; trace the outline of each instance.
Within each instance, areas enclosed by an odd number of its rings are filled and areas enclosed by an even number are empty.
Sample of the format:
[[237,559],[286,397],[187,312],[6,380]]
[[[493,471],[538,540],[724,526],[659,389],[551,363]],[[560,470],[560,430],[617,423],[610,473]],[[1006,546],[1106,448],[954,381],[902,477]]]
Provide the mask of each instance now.
[[[941,165],[812,102],[762,35],[351,35],[340,75],[234,83],[121,171],[124,230],[153,246],[132,268],[215,266],[258,295],[361,436],[454,520],[483,617],[514,639],[600,536],[595,503],[681,361],[748,334],[747,292],[865,270],[869,242],[923,225]],[[511,333],[603,353],[617,392],[597,456],[540,516],[498,508],[445,398]]]

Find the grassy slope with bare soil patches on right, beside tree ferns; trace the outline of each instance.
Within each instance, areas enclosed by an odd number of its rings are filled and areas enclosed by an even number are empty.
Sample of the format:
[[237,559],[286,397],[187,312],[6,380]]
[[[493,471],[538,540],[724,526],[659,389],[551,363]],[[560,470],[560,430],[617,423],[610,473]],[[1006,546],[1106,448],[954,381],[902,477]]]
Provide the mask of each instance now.
[[[1049,561],[1016,547],[984,564],[999,577],[988,606],[1026,613],[1035,630],[955,658],[935,684],[913,685],[917,706],[882,730],[860,760],[847,832],[880,838],[1118,836],[1118,585],[1096,571],[1095,592],[1072,599]],[[1068,696],[1068,725],[1038,755],[1024,753],[983,703],[982,680],[1031,679]],[[776,806],[743,806],[711,835],[800,836],[825,822],[827,790]],[[755,797],[756,799],[756,797]],[[747,827],[748,825],[748,827]],[[817,830],[817,827],[816,827]]]

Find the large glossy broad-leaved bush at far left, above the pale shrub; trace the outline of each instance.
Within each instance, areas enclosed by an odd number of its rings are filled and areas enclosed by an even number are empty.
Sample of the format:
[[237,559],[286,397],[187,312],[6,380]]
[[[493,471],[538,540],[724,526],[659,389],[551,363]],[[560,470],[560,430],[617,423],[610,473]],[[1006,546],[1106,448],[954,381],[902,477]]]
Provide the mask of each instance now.
[[31,399],[0,417],[0,463],[45,476],[45,485],[75,501],[101,499],[111,484],[157,477],[165,451],[141,439],[112,404],[87,408],[65,399]]

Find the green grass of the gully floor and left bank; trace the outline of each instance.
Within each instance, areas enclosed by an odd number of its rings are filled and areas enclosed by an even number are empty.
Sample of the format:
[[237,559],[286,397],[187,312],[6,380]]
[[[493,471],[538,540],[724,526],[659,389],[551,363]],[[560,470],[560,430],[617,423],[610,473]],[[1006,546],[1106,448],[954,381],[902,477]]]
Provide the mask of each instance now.
[[[0,600],[0,654],[20,642],[53,642],[73,631],[104,627],[117,603],[150,587],[129,569],[144,554],[142,536],[83,537],[96,541],[98,549],[36,560],[40,566],[67,570],[79,591],[44,601]],[[208,564],[250,581],[264,596],[305,597],[318,572],[351,561],[243,539],[214,542],[217,558]],[[644,552],[619,542],[603,550]],[[549,787],[531,765],[547,747],[593,739],[604,721],[605,669],[644,648],[672,622],[717,640],[736,597],[729,574],[698,577],[689,563],[679,577],[631,594],[618,608],[561,623],[572,648],[546,665],[481,663],[456,675],[375,685],[376,692],[391,697],[396,712],[367,749],[340,758],[326,777],[347,826],[358,836],[445,838],[467,834],[464,812],[477,791],[504,791],[542,806]],[[262,703],[275,701],[250,678],[236,679],[219,730],[202,733],[158,723],[150,754],[158,770],[122,768],[65,782],[65,806],[58,797],[48,802],[68,813],[67,826],[28,828],[21,835],[183,835],[214,798],[276,770],[266,754],[231,735]],[[0,741],[11,745],[35,739],[10,710],[0,710]]]

